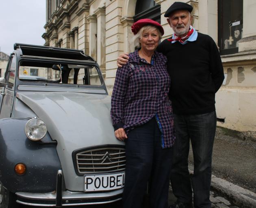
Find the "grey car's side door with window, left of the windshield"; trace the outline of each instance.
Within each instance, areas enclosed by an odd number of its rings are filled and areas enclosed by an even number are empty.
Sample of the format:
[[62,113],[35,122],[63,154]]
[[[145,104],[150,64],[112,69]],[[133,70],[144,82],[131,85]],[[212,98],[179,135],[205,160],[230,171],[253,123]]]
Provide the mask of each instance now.
[[8,65],[7,73],[5,76],[6,86],[2,90],[2,106],[0,111],[0,119],[9,118],[13,108],[13,96],[14,96],[14,83],[16,73],[16,57],[13,54],[10,60],[11,64]]

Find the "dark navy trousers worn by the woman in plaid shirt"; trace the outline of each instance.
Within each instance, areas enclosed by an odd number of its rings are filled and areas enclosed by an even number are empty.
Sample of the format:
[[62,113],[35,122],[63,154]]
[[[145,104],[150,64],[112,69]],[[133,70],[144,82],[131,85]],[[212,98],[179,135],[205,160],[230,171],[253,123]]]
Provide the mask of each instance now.
[[167,208],[172,148],[162,149],[158,125],[153,117],[131,130],[126,140],[124,208],[141,208],[148,181],[150,208]]

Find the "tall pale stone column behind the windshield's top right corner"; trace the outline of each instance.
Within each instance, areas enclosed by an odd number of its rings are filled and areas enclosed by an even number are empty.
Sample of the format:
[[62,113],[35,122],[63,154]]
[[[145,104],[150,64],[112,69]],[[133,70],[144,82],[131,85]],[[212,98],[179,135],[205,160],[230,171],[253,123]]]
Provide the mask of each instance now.
[[97,62],[100,69],[105,74],[106,67],[106,12],[105,7],[98,8],[94,11],[97,16]]

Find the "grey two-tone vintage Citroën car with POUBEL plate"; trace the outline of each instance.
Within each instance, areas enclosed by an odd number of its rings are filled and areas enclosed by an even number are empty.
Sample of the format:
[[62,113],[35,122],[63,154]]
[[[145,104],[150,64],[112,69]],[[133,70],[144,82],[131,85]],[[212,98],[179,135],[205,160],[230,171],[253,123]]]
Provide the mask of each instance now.
[[16,43],[1,87],[0,208],[121,199],[125,148],[93,58]]

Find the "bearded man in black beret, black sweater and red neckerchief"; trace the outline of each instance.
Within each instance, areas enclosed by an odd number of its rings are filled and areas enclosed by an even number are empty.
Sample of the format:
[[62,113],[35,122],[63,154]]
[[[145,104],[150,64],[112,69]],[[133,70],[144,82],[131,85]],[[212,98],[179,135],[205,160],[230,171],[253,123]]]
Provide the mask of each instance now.
[[[194,156],[194,207],[211,207],[209,192],[216,130],[215,93],[221,87],[224,75],[213,39],[191,26],[192,10],[192,6],[183,2],[175,2],[169,7],[165,17],[168,17],[174,34],[158,46],[158,52],[167,56],[167,70],[171,77],[169,98],[176,128],[171,185],[177,202],[170,208],[192,208],[189,141]],[[119,66],[126,63],[125,58],[125,54],[119,56]]]

